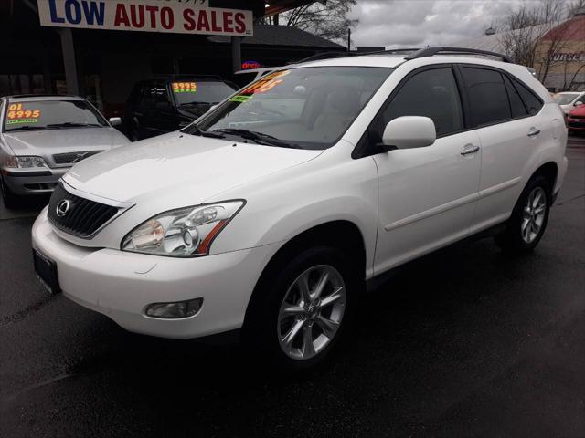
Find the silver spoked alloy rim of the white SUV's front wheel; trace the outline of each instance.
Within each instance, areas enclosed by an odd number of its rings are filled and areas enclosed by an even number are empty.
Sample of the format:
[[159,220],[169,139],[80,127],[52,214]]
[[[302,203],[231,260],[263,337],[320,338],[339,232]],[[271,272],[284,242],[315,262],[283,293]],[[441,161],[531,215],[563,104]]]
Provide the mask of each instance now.
[[313,266],[293,281],[278,315],[284,354],[308,360],[334,339],[346,309],[346,285],[333,266]]

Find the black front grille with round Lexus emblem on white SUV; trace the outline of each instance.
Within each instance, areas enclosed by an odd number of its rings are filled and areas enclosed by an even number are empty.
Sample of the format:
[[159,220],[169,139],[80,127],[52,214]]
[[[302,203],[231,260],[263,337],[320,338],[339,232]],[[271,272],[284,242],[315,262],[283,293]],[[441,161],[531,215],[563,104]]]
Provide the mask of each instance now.
[[[65,208],[68,201],[68,208]],[[61,207],[58,214],[59,205]],[[71,235],[87,238],[96,233],[118,213],[118,208],[105,203],[96,203],[69,193],[61,183],[57,185],[48,202],[48,219],[59,230]]]

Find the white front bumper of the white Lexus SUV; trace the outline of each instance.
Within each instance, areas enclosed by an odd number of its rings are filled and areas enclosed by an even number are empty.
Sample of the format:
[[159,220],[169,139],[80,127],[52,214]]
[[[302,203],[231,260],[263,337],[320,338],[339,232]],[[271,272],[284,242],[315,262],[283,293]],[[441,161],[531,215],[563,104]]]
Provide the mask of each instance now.
[[[240,328],[251,293],[276,245],[199,258],[142,255],[70,244],[53,231],[47,208],[32,230],[33,246],[57,264],[66,297],[122,328],[163,338],[197,338]],[[157,302],[203,298],[197,315],[144,315]]]

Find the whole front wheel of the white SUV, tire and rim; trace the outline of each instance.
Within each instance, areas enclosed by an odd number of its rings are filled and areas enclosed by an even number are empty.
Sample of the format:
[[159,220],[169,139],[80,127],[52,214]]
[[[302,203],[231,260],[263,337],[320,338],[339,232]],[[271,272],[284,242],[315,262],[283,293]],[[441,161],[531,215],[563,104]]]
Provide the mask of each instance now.
[[313,368],[346,331],[357,278],[343,252],[329,246],[303,251],[255,293],[245,327],[248,339],[283,368]]

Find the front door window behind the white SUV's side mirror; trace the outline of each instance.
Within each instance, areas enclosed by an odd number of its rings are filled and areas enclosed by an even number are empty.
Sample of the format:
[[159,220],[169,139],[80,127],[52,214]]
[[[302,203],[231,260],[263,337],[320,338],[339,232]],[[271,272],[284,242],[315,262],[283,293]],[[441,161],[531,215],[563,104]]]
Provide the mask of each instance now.
[[435,123],[437,136],[463,130],[463,111],[452,68],[422,71],[404,84],[376,125],[381,139],[388,121],[401,116],[424,116]]

